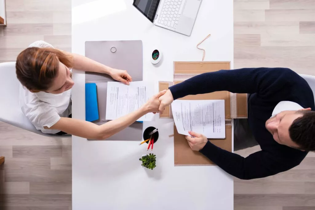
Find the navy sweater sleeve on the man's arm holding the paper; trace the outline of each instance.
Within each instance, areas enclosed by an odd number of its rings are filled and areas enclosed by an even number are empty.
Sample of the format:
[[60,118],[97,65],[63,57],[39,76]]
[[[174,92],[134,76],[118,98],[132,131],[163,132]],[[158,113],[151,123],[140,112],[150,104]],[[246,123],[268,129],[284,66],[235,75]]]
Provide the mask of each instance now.
[[287,171],[300,163],[296,160],[282,160],[273,156],[271,152],[264,150],[244,158],[238,154],[223,150],[213,145],[210,141],[207,142],[200,152],[224,171],[239,179],[256,179],[271,176]]

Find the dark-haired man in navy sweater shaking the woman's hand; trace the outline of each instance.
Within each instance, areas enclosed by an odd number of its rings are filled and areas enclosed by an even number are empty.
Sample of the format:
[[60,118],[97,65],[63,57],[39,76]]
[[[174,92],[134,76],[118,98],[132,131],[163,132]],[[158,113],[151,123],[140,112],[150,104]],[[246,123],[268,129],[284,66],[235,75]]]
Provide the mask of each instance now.
[[186,95],[227,90],[248,93],[248,122],[261,151],[244,158],[213,145],[202,134],[186,136],[200,151],[239,179],[267,177],[301,163],[315,150],[313,92],[307,82],[287,68],[244,68],[204,73],[174,85],[159,98],[160,112]]

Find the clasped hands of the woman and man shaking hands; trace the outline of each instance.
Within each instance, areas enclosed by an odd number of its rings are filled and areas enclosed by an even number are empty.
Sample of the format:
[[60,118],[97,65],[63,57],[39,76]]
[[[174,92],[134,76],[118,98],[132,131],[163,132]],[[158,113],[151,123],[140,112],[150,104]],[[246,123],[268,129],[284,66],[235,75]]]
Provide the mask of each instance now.
[[170,90],[162,90],[158,94],[150,98],[144,105],[143,108],[147,113],[153,112],[154,114],[159,112],[163,113],[166,106],[173,102],[173,95]]

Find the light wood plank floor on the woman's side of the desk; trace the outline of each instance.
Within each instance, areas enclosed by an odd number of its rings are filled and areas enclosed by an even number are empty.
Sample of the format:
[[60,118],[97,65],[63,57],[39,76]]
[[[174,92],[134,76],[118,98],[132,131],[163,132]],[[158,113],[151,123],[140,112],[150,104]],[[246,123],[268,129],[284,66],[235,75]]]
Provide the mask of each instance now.
[[[6,6],[0,62],[15,61],[37,40],[71,51],[71,0],[6,0]],[[71,138],[47,138],[0,122],[0,156],[1,210],[71,209]]]

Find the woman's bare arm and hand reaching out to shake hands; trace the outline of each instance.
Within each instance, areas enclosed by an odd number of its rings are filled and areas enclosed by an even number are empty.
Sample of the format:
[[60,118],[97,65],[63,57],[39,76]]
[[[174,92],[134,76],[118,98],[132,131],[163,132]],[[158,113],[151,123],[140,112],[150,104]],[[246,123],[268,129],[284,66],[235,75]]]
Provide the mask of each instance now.
[[60,130],[75,136],[80,136],[86,139],[106,139],[115,133],[127,128],[129,125],[134,123],[141,116],[149,113],[158,111],[160,102],[158,98],[163,95],[166,91],[161,91],[149,99],[146,104],[140,107],[138,110],[122,116],[116,120],[106,122],[103,125],[96,125],[92,122],[83,120],[61,117],[60,120],[52,127],[46,129]]

